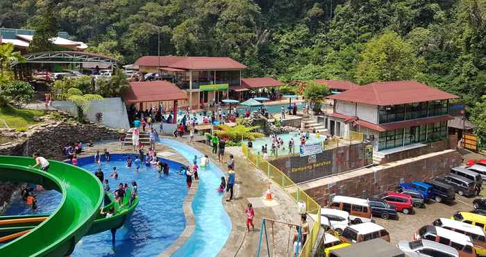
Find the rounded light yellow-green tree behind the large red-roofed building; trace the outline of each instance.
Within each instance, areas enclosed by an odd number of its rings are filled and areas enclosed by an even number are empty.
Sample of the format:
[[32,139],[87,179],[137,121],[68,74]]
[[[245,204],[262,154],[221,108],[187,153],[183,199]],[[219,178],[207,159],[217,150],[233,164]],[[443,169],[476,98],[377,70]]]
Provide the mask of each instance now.
[[355,76],[361,84],[408,80],[419,73],[420,63],[412,46],[394,32],[369,41],[360,59]]

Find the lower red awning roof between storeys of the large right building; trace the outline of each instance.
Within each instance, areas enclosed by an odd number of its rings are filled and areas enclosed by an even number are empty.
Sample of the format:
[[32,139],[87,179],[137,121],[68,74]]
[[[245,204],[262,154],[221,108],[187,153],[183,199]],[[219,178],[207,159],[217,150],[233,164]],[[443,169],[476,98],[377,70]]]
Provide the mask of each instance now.
[[384,132],[384,131],[393,131],[395,129],[399,128],[408,128],[410,126],[420,126],[424,124],[430,124],[430,123],[435,123],[435,122],[446,122],[449,119],[453,119],[452,116],[450,115],[441,115],[441,116],[435,116],[435,117],[425,117],[421,119],[410,119],[410,120],[404,120],[401,122],[391,122],[391,123],[385,123],[385,124],[374,124],[371,122],[365,122],[364,120],[361,119],[355,119],[354,116],[349,116],[349,115],[344,115],[341,113],[328,113],[329,117],[335,117],[337,119],[344,119],[346,120],[353,120],[356,124],[360,126],[364,126],[365,128],[371,128],[375,131],[379,132]]

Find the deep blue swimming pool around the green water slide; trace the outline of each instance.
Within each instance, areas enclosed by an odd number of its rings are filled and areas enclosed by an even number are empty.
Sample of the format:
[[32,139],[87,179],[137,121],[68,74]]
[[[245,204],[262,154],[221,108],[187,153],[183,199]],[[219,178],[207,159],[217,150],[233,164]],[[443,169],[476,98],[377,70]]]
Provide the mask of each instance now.
[[[112,154],[112,160],[101,165],[92,163],[92,157],[79,158],[78,163],[89,172],[101,167],[110,181],[111,191],[118,183],[137,181],[140,203],[129,222],[117,230],[115,247],[111,233],[105,231],[88,235],[76,244],[72,256],[157,256],[165,251],[185,228],[183,201],[187,195],[185,176],[177,174],[180,165],[169,160],[169,176],[158,176],[154,167],[126,167],[125,154]],[[117,167],[118,179],[110,178],[112,167]],[[37,213],[51,213],[62,195],[54,190],[36,192],[39,209]],[[6,215],[32,214],[23,201],[16,201]]]

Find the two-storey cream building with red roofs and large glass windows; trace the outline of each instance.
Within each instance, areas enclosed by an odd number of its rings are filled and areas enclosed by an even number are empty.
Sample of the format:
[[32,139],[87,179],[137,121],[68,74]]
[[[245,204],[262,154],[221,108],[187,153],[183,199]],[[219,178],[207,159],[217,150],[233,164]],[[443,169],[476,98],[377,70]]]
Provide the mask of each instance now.
[[421,147],[447,138],[449,100],[456,98],[417,81],[371,83],[328,97],[334,112],[326,126],[331,135],[363,133],[374,151]]

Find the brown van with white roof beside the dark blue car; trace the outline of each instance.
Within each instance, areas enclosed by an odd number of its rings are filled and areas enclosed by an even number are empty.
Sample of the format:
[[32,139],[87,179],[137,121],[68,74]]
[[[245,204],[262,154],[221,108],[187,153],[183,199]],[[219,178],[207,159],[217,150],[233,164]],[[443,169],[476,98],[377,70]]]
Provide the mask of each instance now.
[[346,211],[354,224],[371,222],[371,209],[366,199],[337,195],[330,201],[330,208]]

